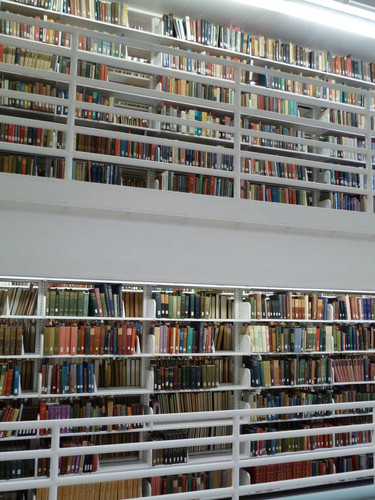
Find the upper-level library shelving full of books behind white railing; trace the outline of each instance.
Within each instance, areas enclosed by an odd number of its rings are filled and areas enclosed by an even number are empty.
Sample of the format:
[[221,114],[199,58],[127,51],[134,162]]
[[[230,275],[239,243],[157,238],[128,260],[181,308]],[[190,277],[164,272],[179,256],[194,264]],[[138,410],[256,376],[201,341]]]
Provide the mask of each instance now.
[[1,2],[2,172],[373,212],[372,63],[87,4]]

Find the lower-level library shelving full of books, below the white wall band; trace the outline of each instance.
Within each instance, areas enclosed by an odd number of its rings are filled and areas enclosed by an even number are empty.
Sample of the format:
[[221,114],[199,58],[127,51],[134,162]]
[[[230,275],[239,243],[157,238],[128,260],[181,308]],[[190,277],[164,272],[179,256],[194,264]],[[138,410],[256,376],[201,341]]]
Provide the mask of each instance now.
[[0,491],[372,477],[374,294],[3,279]]

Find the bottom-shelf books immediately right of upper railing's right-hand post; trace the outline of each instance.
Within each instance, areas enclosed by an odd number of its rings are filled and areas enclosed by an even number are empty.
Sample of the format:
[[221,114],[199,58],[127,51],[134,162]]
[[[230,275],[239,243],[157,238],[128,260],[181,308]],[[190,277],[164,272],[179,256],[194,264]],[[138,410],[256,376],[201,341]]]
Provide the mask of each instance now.
[[[312,206],[311,193],[305,189],[283,188],[254,184],[247,179],[240,179],[241,198],[245,200],[286,203],[288,205]],[[348,195],[345,195],[348,196]]]

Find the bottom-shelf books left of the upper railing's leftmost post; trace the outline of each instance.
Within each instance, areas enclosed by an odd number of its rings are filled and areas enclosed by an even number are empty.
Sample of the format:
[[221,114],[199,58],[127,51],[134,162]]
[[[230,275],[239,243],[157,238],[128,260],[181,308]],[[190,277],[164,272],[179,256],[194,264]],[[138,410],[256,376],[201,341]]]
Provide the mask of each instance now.
[[0,155],[0,172],[64,179],[65,159],[39,155]]

